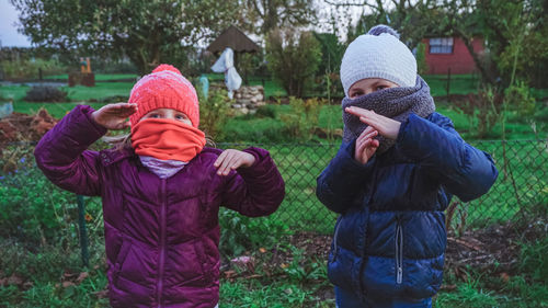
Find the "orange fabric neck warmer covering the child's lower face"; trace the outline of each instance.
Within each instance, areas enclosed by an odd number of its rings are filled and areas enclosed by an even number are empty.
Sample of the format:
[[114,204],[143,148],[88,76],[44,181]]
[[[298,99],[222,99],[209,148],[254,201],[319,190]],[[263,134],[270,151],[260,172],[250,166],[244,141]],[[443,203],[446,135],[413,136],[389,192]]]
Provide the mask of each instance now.
[[132,126],[132,146],[137,155],[187,162],[205,144],[202,130],[174,119],[145,118]]

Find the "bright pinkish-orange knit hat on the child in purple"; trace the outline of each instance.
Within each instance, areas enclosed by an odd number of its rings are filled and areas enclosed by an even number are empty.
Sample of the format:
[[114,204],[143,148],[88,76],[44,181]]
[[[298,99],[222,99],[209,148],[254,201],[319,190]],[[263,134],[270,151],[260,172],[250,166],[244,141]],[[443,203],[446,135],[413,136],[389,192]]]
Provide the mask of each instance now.
[[189,116],[192,126],[199,125],[199,106],[196,90],[179,69],[160,65],[135,83],[128,103],[137,104],[137,112],[129,116],[132,126],[156,109],[173,109]]

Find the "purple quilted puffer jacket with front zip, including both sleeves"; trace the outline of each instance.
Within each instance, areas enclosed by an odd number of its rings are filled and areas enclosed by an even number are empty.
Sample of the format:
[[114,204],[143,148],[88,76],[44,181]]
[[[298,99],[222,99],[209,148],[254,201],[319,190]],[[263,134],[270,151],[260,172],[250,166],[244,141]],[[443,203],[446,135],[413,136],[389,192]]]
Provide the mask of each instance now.
[[221,150],[204,148],[161,180],[133,150],[85,150],[106,133],[77,106],[38,142],[44,174],[70,192],[101,196],[113,307],[214,307],[219,299],[219,206],[269,215],[285,195],[269,152],[250,168],[219,176]]

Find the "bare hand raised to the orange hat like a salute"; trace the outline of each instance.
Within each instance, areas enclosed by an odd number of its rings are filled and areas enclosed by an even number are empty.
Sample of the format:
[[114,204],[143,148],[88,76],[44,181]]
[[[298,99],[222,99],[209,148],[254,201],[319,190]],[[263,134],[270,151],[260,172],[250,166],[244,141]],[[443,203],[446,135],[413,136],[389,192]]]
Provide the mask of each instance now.
[[136,104],[116,103],[102,106],[91,114],[96,124],[106,129],[124,129],[129,127],[127,117],[137,112]]

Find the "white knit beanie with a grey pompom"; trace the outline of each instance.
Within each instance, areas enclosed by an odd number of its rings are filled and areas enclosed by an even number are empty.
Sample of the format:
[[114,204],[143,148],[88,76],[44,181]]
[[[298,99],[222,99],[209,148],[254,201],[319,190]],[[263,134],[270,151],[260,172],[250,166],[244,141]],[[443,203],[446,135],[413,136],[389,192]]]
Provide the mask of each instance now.
[[350,87],[365,78],[383,78],[400,87],[415,85],[416,59],[399,37],[393,28],[380,24],[349,45],[341,62],[346,96]]

